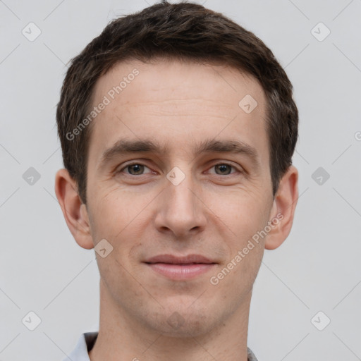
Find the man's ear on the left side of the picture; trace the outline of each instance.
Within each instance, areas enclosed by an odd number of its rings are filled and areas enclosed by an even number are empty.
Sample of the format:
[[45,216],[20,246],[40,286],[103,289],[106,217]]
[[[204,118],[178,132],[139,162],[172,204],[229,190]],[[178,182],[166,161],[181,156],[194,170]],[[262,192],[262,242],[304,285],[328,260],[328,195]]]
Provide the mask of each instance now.
[[55,176],[55,194],[71,234],[80,247],[90,250],[94,247],[90,233],[87,207],[78,195],[78,187],[66,169],[59,169]]

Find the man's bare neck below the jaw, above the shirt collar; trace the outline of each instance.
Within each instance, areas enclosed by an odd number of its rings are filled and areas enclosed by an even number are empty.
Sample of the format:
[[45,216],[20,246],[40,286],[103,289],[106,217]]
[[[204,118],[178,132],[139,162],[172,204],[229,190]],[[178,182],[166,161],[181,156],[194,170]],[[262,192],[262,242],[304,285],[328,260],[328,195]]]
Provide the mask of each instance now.
[[252,291],[227,319],[197,336],[167,336],[145,327],[116,305],[100,281],[100,324],[91,361],[247,361]]

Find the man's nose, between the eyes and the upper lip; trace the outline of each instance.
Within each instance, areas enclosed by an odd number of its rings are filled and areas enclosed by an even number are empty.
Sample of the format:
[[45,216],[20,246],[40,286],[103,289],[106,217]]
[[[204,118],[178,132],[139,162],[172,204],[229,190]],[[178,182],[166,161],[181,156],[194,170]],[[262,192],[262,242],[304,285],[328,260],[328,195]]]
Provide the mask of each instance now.
[[204,231],[207,207],[191,175],[175,184],[166,179],[166,186],[158,197],[155,226],[159,232],[173,233],[176,238],[194,236]]

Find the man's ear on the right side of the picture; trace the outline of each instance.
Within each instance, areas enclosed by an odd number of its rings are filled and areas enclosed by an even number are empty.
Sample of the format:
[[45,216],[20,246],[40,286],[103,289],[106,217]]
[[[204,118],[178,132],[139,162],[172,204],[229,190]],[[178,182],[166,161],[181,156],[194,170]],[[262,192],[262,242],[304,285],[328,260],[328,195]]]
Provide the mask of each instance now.
[[298,170],[295,166],[289,166],[281,178],[279,189],[274,196],[271,209],[273,227],[267,234],[264,247],[267,250],[274,250],[279,247],[288,237],[293,224],[295,207],[298,201]]

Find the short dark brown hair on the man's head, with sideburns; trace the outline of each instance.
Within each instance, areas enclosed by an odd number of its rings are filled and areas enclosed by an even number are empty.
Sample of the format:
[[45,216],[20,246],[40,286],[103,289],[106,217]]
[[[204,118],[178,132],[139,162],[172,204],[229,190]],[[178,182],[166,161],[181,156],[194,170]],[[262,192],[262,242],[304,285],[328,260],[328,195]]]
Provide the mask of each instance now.
[[71,60],[56,121],[63,163],[78,185],[82,202],[86,203],[91,124],[73,139],[69,140],[69,134],[89,114],[95,83],[120,61],[162,58],[224,64],[259,81],[267,97],[269,166],[275,195],[292,164],[298,139],[298,109],[286,72],[258,37],[221,13],[198,4],[162,1],[111,21]]

